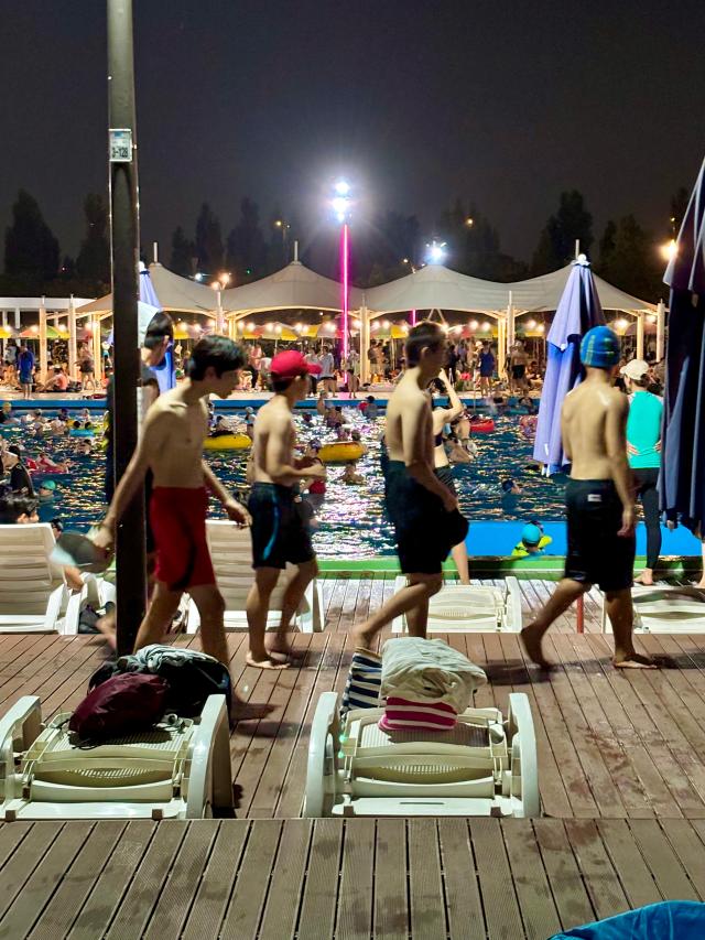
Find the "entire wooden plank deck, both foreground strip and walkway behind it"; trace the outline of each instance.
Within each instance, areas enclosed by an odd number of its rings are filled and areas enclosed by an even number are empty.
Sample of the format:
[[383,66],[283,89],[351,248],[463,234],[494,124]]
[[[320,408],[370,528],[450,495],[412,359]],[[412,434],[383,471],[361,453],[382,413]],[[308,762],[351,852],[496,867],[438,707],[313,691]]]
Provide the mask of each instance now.
[[[521,587],[525,617],[552,590]],[[470,820],[469,829],[455,820],[297,819],[318,695],[341,690],[348,630],[391,590],[392,579],[326,581],[325,633],[295,637],[307,652],[301,669],[248,668],[245,635],[229,634],[238,693],[276,705],[231,736],[240,819],[0,828],[0,940],[166,930],[514,940],[704,896],[705,635],[640,637],[664,668],[618,673],[595,597],[584,635],[574,613],[549,635],[558,665],[550,677],[525,662],[513,635],[448,637],[489,674],[478,705],[506,709],[509,692],[528,693],[543,819]],[[0,712],[23,694],[41,695],[45,716],[70,710],[104,655],[93,637],[1,636]]]

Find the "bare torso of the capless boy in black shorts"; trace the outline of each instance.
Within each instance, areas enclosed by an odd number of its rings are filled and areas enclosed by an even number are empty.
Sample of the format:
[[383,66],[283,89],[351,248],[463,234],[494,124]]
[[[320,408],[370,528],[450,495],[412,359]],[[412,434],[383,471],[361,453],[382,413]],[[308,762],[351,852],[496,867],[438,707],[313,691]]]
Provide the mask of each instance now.
[[386,437],[390,460],[409,465],[413,455],[433,467],[431,399],[419,388],[411,371],[401,379],[387,404]]

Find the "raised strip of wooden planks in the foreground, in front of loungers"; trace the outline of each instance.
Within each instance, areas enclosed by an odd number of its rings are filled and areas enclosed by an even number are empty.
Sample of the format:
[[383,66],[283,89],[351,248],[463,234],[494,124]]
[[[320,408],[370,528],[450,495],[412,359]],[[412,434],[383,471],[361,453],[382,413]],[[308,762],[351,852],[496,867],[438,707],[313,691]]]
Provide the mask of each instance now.
[[686,820],[204,820],[0,828],[12,940],[546,940],[705,898]]

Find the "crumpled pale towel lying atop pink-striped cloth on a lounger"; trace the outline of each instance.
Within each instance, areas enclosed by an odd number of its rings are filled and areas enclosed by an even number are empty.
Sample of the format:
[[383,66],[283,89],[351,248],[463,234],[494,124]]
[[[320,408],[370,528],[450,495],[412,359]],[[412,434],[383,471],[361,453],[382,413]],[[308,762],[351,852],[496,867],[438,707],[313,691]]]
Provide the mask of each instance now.
[[382,698],[443,702],[460,714],[486,682],[479,666],[443,640],[400,637],[388,640],[382,649]]

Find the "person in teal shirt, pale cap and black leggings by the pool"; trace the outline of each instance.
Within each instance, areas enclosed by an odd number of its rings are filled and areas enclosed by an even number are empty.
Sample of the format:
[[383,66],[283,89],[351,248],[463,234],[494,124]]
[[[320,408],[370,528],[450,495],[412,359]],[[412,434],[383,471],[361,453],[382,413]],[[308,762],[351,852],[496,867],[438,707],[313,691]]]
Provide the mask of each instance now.
[[647,391],[650,383],[649,364],[643,359],[632,359],[620,371],[630,398],[627,454],[647,527],[647,566],[637,581],[640,584],[653,584],[653,570],[661,553],[658,484],[661,469],[663,401]]

